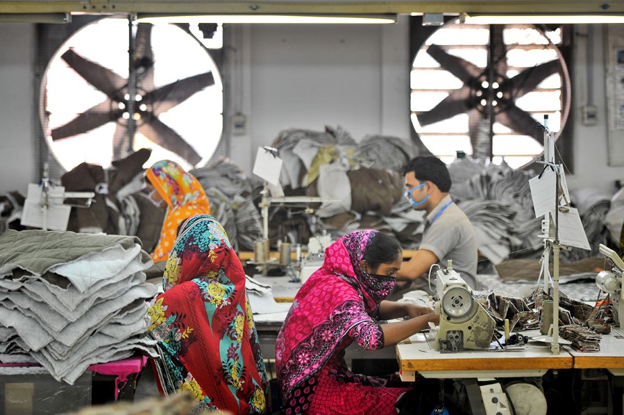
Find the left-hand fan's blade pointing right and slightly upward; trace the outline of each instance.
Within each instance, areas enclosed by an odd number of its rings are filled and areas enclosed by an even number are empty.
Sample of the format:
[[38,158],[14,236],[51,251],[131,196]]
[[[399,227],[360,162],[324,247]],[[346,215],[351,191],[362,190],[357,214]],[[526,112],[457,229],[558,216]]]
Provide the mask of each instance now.
[[169,85],[164,85],[158,88],[158,90],[148,92],[143,96],[143,101],[147,104],[152,104],[152,112],[158,116],[162,112],[167,112],[185,101],[195,92],[199,92],[210,85],[214,85],[214,77],[212,72],[205,72],[204,74],[180,79]]

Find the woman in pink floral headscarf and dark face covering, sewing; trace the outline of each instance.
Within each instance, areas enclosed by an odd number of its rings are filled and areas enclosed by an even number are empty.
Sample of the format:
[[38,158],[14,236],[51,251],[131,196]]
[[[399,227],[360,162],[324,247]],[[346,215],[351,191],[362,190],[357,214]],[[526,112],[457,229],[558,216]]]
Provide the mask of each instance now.
[[[341,237],[294,298],[276,342],[276,368],[285,414],[395,414],[409,390],[396,376],[376,378],[348,370],[345,348],[398,343],[438,323],[428,307],[385,301],[402,262],[398,242],[376,230]],[[411,319],[380,324],[380,319]]]

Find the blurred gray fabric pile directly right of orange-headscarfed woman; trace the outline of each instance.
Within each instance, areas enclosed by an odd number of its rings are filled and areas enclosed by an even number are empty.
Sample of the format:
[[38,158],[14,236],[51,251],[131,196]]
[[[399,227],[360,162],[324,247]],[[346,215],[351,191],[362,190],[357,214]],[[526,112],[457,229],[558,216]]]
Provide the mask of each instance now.
[[226,230],[235,251],[253,251],[262,237],[262,218],[253,203],[253,184],[236,164],[226,159],[191,170],[210,201],[210,212]]

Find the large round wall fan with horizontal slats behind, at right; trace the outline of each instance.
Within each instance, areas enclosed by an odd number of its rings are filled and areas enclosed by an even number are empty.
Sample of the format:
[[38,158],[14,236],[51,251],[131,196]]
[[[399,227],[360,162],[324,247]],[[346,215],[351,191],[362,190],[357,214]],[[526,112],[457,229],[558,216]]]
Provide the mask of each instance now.
[[526,24],[438,28],[412,65],[412,122],[423,144],[441,156],[530,162],[543,151],[543,116],[556,139],[570,111],[561,39],[561,28]]

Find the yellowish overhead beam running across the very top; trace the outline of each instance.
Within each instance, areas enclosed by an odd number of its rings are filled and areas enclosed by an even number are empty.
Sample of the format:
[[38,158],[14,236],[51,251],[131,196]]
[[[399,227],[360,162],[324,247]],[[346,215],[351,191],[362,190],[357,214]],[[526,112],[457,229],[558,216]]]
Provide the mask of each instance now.
[[0,1],[0,13],[624,13],[624,1],[133,0]]

